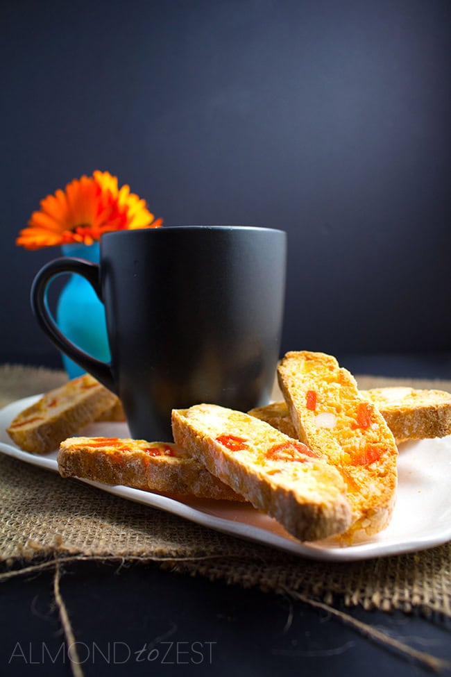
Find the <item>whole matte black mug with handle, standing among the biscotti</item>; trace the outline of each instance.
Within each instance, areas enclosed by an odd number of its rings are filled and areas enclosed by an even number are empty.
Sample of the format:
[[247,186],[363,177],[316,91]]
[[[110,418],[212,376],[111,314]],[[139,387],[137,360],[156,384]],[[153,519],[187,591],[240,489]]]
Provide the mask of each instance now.
[[[101,237],[100,264],[59,258],[35,277],[31,305],[50,340],[124,406],[137,439],[171,440],[171,410],[266,404],[279,358],[286,233],[254,226],[164,226]],[[77,273],[105,306],[111,362],[63,335],[46,301]],[[89,318],[87,318],[89,322]]]

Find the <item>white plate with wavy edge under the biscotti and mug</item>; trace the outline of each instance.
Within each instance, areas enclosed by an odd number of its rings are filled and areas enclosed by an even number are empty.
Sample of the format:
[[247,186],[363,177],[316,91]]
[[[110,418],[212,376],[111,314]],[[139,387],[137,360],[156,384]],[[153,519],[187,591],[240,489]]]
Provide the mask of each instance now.
[[[0,410],[0,451],[47,470],[58,472],[56,451],[35,455],[21,451],[6,433],[12,419],[39,396],[13,402]],[[80,435],[129,437],[125,423],[90,424]],[[228,501],[187,499],[153,494],[124,486],[81,480],[129,501],[167,510],[223,533],[265,544],[303,558],[346,562],[424,550],[451,540],[451,435],[441,440],[407,442],[400,446],[398,495],[389,526],[364,542],[341,546],[334,539],[301,543],[271,517],[251,505]],[[67,480],[61,479],[62,482]]]

